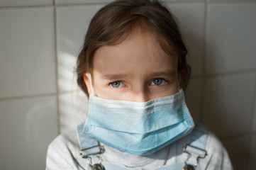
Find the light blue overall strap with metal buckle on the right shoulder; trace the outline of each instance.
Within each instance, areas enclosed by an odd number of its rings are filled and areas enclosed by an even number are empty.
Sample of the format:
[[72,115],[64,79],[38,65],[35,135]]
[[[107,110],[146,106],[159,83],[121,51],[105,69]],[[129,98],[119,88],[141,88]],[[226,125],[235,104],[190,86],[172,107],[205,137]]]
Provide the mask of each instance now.
[[[203,170],[207,168],[208,162],[211,159],[211,153],[208,153],[206,150],[208,130],[203,125],[196,123],[194,130],[184,140],[179,140],[179,142],[173,146],[174,148],[172,147],[173,150],[178,150],[176,154],[172,152],[172,156],[177,157],[176,161],[157,170]],[[182,153],[182,147],[184,153]],[[205,158],[203,158],[204,156]],[[198,157],[199,159],[197,159]]]

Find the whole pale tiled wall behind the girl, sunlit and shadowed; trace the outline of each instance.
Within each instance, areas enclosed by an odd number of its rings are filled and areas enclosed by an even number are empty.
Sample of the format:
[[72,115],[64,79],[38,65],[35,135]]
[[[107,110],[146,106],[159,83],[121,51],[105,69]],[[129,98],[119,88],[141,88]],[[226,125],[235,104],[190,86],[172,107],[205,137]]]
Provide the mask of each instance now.
[[[48,144],[86,119],[74,63],[90,18],[110,0],[0,0],[0,169],[45,169]],[[189,47],[187,103],[256,169],[256,1],[166,0]]]

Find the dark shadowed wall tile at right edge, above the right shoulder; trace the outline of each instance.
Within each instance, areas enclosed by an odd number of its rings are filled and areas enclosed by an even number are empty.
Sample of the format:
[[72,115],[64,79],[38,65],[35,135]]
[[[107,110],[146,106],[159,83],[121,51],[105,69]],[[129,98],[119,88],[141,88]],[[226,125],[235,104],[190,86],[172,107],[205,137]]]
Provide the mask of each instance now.
[[250,132],[255,73],[208,78],[205,86],[203,123],[218,137]]

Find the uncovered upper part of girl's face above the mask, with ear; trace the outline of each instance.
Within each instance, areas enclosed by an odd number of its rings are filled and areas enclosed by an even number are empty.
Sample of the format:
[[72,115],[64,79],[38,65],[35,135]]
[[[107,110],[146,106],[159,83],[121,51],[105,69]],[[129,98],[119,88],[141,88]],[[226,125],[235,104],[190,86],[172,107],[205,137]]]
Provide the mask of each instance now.
[[[89,94],[89,73],[84,74]],[[136,31],[118,45],[96,50],[94,95],[121,101],[150,101],[179,91],[177,56],[165,53],[154,35]]]

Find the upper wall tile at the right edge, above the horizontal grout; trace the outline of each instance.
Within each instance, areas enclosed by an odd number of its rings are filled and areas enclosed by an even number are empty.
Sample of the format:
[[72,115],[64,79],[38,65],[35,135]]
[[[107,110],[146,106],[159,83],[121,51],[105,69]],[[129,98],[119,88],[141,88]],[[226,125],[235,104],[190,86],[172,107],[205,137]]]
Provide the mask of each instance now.
[[256,69],[256,4],[209,4],[206,73]]

